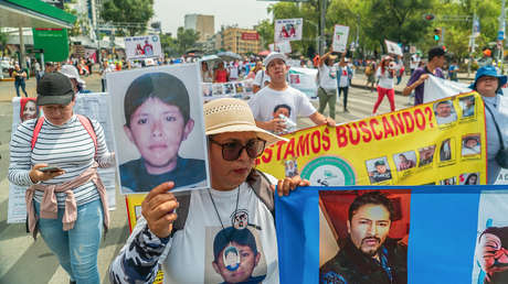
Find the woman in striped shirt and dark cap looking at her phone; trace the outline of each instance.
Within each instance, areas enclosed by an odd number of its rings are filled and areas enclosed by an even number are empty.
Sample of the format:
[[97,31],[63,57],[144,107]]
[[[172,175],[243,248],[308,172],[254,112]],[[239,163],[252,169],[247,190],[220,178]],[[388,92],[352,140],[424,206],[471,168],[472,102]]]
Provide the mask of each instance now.
[[100,124],[73,112],[71,80],[46,74],[38,85],[44,118],[24,121],[10,143],[9,181],[27,186],[29,228],[38,230],[71,283],[99,283],[97,252],[108,211],[97,166],[114,164]]

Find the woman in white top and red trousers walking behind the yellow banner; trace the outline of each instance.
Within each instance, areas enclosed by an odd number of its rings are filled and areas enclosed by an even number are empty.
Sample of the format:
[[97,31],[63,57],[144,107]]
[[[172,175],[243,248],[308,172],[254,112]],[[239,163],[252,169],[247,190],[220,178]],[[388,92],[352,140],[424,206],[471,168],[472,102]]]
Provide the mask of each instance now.
[[378,101],[375,101],[372,116],[375,116],[379,105],[383,100],[384,96],[388,97],[390,102],[391,111],[395,110],[395,90],[393,87],[393,79],[395,76],[395,64],[392,62],[393,58],[389,55],[384,56],[381,61],[375,77],[378,78]]

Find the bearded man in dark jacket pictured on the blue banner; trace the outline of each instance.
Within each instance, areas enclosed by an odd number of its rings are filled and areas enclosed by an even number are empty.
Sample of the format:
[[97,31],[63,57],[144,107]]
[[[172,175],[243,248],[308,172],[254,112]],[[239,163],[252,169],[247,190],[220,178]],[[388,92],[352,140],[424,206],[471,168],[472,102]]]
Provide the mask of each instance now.
[[393,206],[379,192],[357,197],[349,207],[346,244],[321,269],[321,284],[408,283],[408,248],[388,238]]

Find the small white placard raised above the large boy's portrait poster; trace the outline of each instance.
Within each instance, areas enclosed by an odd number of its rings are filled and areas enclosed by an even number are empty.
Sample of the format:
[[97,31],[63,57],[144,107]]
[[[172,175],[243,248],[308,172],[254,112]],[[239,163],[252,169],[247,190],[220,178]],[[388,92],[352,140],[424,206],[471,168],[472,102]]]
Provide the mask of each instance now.
[[162,57],[159,35],[125,37],[125,54],[128,61]]

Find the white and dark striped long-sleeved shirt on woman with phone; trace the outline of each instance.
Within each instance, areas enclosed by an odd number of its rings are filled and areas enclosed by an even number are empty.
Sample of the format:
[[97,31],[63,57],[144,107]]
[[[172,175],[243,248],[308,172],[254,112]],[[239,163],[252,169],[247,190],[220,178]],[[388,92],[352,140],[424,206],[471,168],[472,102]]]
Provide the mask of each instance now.
[[[107,150],[104,130],[100,124],[92,120],[97,136],[97,161],[99,167],[109,167],[114,164],[114,155]],[[41,132],[33,150],[31,149],[33,129],[36,119],[28,120],[18,127],[10,143],[9,181],[19,186],[33,185],[29,176],[35,164],[49,164],[65,171],[65,174],[42,182],[43,185],[62,184],[74,179],[94,163],[94,142],[74,114],[63,125],[52,124],[44,120]],[[76,205],[84,205],[99,199],[96,186],[88,182],[73,189]],[[33,199],[42,201],[43,192],[36,190]],[[60,208],[64,207],[65,193],[56,193]]]

